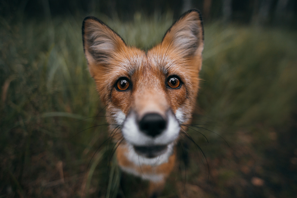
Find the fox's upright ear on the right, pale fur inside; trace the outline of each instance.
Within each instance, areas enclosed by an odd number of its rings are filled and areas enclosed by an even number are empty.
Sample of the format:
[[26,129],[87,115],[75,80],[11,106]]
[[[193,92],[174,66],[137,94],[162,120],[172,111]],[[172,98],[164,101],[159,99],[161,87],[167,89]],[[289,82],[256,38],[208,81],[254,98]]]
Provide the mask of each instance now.
[[177,53],[182,54],[184,58],[201,61],[204,30],[199,10],[191,9],[184,13],[165,33],[162,45],[178,50]]

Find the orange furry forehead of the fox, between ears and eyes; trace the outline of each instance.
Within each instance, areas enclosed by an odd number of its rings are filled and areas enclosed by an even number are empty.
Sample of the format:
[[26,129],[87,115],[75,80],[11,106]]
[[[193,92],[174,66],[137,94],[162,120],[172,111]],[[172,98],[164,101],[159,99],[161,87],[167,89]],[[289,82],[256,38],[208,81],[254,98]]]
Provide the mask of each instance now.
[[[164,51],[164,50],[163,50]],[[196,73],[188,60],[178,54],[165,53],[162,50],[151,49],[144,52],[137,48],[119,50],[113,57],[113,64],[105,67],[106,88],[112,89],[117,79],[127,77],[132,81],[154,82],[177,75],[184,83],[193,81],[189,73]],[[192,75],[198,80],[198,75]],[[196,80],[196,81],[197,81]]]

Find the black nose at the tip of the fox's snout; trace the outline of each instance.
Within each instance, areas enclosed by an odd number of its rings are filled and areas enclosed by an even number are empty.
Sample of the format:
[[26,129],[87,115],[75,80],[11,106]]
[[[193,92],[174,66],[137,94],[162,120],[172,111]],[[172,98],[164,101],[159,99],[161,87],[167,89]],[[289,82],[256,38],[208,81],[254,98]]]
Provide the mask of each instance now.
[[166,120],[159,114],[150,113],[143,116],[139,122],[139,128],[145,134],[155,137],[166,128]]

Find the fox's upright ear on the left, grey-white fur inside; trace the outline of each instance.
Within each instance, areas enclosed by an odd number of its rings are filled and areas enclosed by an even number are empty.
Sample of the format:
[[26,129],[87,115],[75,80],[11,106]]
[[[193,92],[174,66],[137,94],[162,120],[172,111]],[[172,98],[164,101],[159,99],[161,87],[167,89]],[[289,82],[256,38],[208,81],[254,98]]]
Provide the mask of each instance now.
[[111,63],[113,55],[126,46],[124,40],[96,17],[83,20],[83,49],[88,61],[91,76],[102,71]]

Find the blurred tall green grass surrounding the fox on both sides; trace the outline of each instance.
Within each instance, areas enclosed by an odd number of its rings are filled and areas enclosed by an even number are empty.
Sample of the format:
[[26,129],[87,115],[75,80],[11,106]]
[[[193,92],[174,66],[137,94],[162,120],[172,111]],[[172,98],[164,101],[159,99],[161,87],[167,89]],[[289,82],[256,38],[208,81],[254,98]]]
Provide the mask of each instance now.
[[[128,44],[142,48],[159,42],[173,22],[170,13],[151,17],[137,13],[130,22],[117,17],[99,18]],[[103,144],[108,138],[104,106],[87,70],[82,20],[70,15],[48,20],[24,18],[19,22],[0,19],[0,196],[114,197],[115,192],[123,193],[119,190],[120,172],[110,159],[112,145]],[[263,159],[268,160],[265,152],[271,142],[282,145],[277,138],[291,134],[289,130],[296,122],[295,35],[296,31],[282,29],[206,24],[199,110],[195,112],[199,116],[193,123],[212,131],[199,129],[210,143],[206,145],[203,136],[194,130],[189,133],[210,156],[210,167],[217,170],[210,172],[211,187],[207,187],[206,162],[192,144],[187,171],[180,165],[176,177],[169,178],[165,197],[182,194],[185,182],[184,197],[197,195],[197,191],[203,197],[242,197],[247,188],[253,187],[238,182],[250,181],[252,173],[244,175],[242,171],[242,161],[251,162],[247,153],[259,159],[260,164],[255,166],[262,172],[256,171],[256,175],[269,178],[263,170]],[[225,137],[230,149],[218,135]],[[253,147],[261,149],[255,151]],[[230,154],[236,148],[242,153]],[[241,158],[236,163],[237,157]],[[228,159],[230,166],[221,158]],[[281,171],[275,175],[286,178]],[[269,185],[255,192],[264,197],[290,196],[296,180],[289,181],[293,182],[266,181]],[[267,193],[273,185],[287,188]],[[133,190],[124,191],[129,194]],[[134,196],[143,196],[143,191]]]

